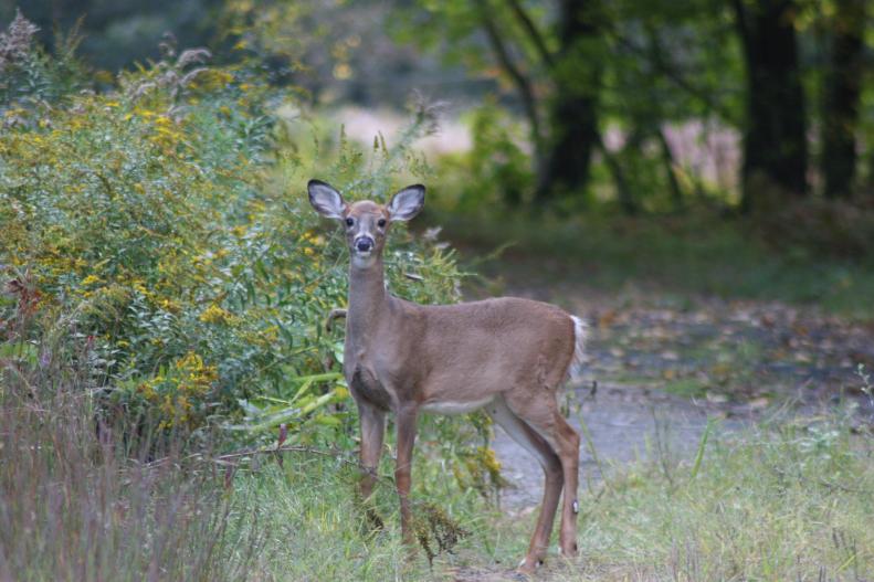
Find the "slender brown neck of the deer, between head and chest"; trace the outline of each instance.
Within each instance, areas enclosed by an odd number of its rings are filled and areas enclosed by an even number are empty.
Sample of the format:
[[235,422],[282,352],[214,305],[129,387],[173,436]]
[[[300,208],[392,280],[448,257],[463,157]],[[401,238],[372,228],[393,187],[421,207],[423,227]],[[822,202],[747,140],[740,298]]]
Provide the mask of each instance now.
[[387,311],[388,292],[386,290],[382,257],[367,267],[349,267],[349,309],[348,334],[355,346],[364,346],[368,335]]

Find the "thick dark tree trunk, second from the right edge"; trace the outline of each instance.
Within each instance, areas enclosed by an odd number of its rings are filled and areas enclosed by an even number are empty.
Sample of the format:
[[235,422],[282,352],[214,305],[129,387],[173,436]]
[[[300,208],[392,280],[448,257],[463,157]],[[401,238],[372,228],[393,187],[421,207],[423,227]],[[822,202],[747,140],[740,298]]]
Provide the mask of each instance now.
[[741,210],[807,194],[804,94],[792,0],[734,0],[747,68]]

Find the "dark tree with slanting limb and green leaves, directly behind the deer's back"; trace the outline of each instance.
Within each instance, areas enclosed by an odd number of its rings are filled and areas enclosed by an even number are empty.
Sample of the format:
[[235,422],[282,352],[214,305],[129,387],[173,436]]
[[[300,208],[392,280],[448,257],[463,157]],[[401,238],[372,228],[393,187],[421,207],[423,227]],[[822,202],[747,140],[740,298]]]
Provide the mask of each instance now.
[[[430,23],[464,45],[449,53],[465,52],[462,60],[480,68],[496,66],[512,84],[528,121],[535,195],[540,201],[579,192],[589,180],[592,152],[600,142],[597,110],[603,59],[593,55],[601,40],[600,3],[559,0],[554,12],[519,0],[422,4],[434,17]],[[491,59],[483,59],[481,41]]]

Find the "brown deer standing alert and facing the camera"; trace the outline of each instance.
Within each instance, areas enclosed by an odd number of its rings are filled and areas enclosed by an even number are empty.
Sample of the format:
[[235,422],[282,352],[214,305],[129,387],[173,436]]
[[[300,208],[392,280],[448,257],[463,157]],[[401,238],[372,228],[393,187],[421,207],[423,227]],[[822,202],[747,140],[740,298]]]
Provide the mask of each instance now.
[[484,409],[544,469],[540,512],[518,570],[531,573],[544,563],[562,488],[559,546],[562,555],[576,555],[580,437],[560,413],[558,392],[579,375],[583,321],[554,305],[516,297],[452,305],[394,297],[386,287],[382,252],[391,225],[422,210],[424,186],[403,188],[387,205],[346,202],[320,180],[310,180],[307,192],[316,212],[340,222],[349,250],[343,368],[359,414],[360,498],[372,494],[386,416],[392,413],[401,537],[412,548],[417,419]]

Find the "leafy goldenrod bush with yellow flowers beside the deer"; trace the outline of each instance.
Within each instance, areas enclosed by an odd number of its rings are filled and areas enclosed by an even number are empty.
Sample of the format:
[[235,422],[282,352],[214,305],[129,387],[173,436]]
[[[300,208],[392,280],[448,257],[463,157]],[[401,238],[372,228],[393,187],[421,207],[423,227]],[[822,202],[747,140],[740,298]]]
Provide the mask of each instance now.
[[[275,95],[208,56],[168,50],[109,93],[18,110],[0,136],[0,265],[13,282],[0,349],[51,359],[46,334],[67,314],[110,414],[197,432],[245,412],[248,428],[286,422],[292,440],[335,440],[349,434],[349,399],[341,338],[322,324],[345,303],[346,260],[303,169],[385,197],[399,172],[423,171],[409,146],[431,117],[421,109],[370,159],[341,140],[331,166],[333,151],[305,161],[275,129]],[[433,242],[394,234],[387,263],[402,296],[456,297],[452,257]]]

